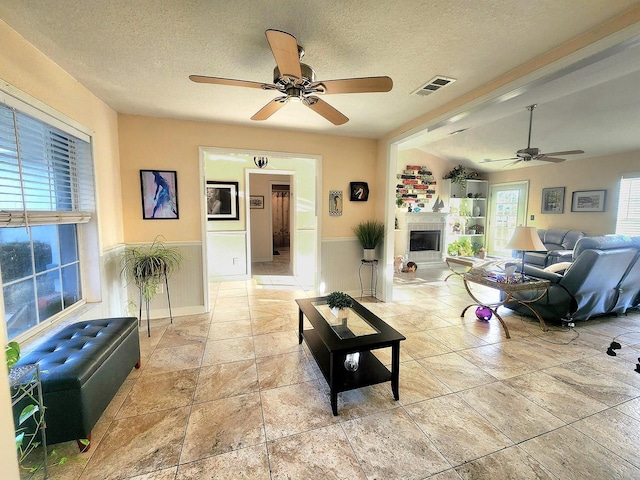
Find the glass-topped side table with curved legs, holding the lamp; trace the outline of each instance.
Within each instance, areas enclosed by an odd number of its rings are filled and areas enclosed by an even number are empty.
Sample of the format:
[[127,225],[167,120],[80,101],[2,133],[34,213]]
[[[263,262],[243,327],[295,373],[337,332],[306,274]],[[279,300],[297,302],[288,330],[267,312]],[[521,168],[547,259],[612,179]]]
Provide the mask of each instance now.
[[[507,328],[507,325],[504,323],[504,320],[498,313],[498,307],[501,307],[502,305],[504,305],[509,301],[516,301],[520,305],[524,305],[529,310],[531,310],[531,312],[538,319],[538,322],[540,323],[540,328],[542,329],[543,332],[546,332],[549,330],[547,328],[547,325],[544,323],[544,319],[530,305],[531,303],[540,300],[542,297],[544,297],[547,294],[547,292],[549,291],[549,286],[551,285],[551,282],[549,280],[529,278],[527,281],[519,282],[519,283],[503,283],[503,282],[497,281],[494,278],[484,276],[482,275],[482,273],[476,270],[470,270],[469,272],[464,273],[462,275],[462,280],[464,282],[464,288],[467,290],[467,293],[475,303],[472,303],[471,305],[467,305],[465,309],[462,310],[460,317],[464,317],[464,314],[467,312],[467,310],[474,305],[487,307],[489,310],[491,310],[491,313],[495,315],[495,317],[502,324],[506,337],[511,338],[511,336],[509,335],[509,329]],[[471,289],[469,288],[470,283],[476,283],[478,285],[483,285],[485,287],[494,288],[496,290],[499,290],[505,293],[506,297],[504,298],[504,300],[500,302],[496,302],[488,305],[484,302],[481,302],[474,296],[474,294],[471,292]],[[514,293],[517,293],[517,292],[535,292],[535,291],[539,291],[540,294],[536,295],[534,298],[530,300],[521,300],[513,295]]]

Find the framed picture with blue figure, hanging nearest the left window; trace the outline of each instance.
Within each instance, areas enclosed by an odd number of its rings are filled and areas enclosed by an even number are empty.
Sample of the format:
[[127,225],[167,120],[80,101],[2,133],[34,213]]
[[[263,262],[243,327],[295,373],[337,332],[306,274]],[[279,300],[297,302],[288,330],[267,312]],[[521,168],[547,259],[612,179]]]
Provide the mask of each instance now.
[[178,174],[175,170],[140,170],[143,220],[177,220]]

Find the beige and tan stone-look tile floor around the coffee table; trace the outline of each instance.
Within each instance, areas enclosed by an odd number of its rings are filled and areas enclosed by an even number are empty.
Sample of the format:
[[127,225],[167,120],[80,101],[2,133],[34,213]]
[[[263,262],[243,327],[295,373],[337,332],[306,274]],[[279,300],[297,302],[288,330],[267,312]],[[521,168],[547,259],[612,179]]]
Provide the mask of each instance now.
[[142,368],[88,453],[55,446],[69,462],[51,478],[640,478],[640,334],[624,335],[640,331],[640,313],[543,333],[504,310],[506,340],[473,309],[460,318],[459,277],[402,274],[393,303],[366,303],[407,337],[400,401],[389,384],[342,393],[334,417],[297,341],[293,300],[313,292],[259,267],[254,280],[212,284],[211,314],[141,330]]

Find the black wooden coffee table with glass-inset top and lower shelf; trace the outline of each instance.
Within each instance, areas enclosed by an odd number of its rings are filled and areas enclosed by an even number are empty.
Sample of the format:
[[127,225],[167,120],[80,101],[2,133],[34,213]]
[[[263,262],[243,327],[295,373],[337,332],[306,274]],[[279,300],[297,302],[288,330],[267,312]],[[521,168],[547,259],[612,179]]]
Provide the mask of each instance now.
[[[298,343],[307,342],[331,390],[331,410],[338,415],[338,393],[356,388],[391,382],[393,397],[398,400],[400,342],[405,337],[357,301],[349,309],[346,321],[329,310],[326,297],[296,300]],[[304,330],[304,317],[313,328]],[[391,371],[371,350],[391,347]],[[359,353],[356,371],[348,371],[344,362],[348,354]]]

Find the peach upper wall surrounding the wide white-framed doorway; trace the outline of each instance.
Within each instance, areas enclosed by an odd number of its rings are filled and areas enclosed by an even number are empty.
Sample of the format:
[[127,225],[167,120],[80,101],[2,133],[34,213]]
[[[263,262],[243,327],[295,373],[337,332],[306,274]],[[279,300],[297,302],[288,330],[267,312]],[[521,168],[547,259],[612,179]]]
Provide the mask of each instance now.
[[[167,241],[201,239],[200,146],[321,156],[324,238],[353,236],[353,225],[374,215],[374,201],[349,202],[349,182],[368,182],[374,198],[383,191],[375,170],[376,140],[134,115],[119,115],[118,128],[126,243],[157,235]],[[139,170],[147,168],[178,172],[179,220],[142,220]],[[329,217],[329,190],[344,191],[341,217]]]

